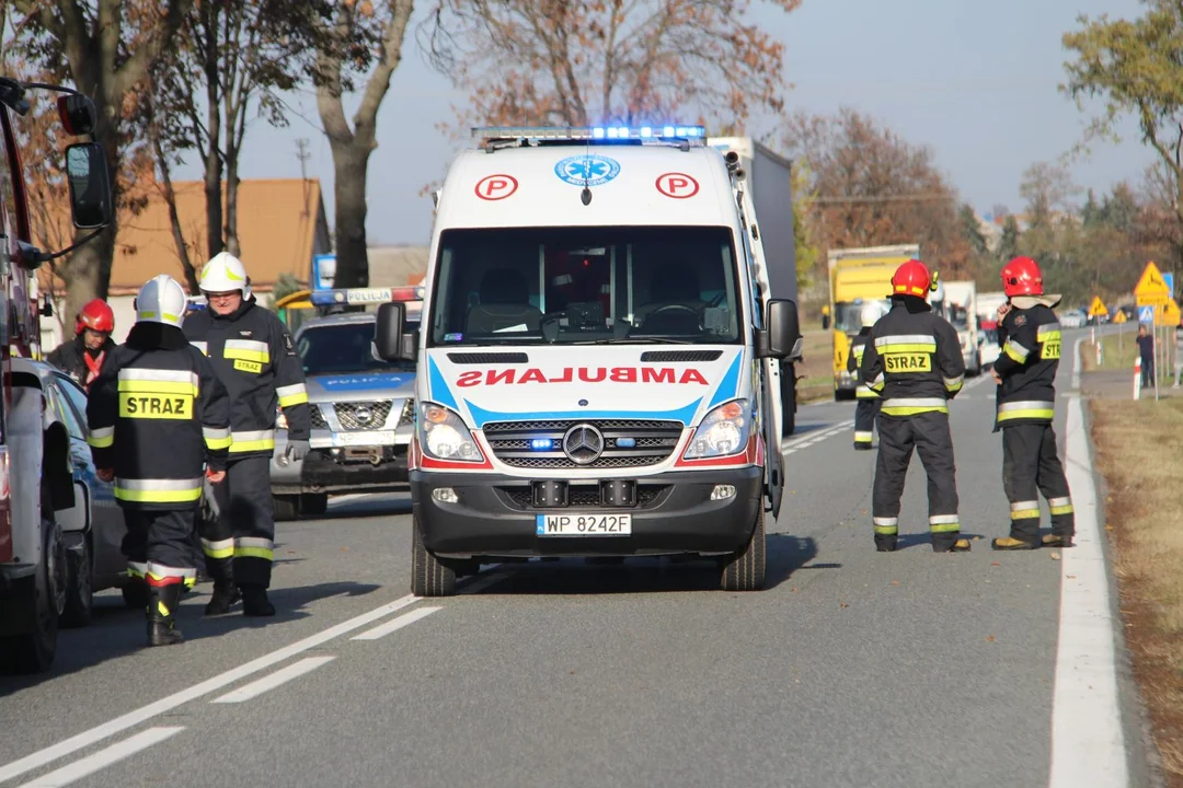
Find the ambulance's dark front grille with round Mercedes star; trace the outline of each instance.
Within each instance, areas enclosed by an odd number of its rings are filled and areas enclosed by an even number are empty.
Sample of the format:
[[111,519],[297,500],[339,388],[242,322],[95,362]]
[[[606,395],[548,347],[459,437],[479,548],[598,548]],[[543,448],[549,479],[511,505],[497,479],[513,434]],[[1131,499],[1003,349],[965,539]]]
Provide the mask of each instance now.
[[[605,441],[600,457],[583,465],[571,461],[562,448],[563,436],[576,424],[592,424]],[[493,456],[515,468],[642,468],[666,460],[678,447],[681,430],[678,422],[641,419],[500,422],[485,425],[485,438]],[[532,442],[541,438],[550,438],[552,448],[532,449]],[[634,445],[621,447],[625,439],[632,439]]]

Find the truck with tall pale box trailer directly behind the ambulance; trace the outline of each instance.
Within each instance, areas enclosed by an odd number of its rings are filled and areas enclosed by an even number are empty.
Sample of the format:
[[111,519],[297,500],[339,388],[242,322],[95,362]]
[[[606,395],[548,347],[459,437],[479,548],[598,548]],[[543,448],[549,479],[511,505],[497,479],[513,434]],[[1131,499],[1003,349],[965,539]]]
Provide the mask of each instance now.
[[[751,137],[710,137],[706,144],[739,157],[745,182],[745,206],[754,209],[751,224],[757,227],[765,255],[771,298],[797,301],[797,252],[793,232],[791,162]],[[762,223],[756,222],[759,216]],[[789,358],[781,362],[782,436],[793,435],[797,413],[797,373]]]

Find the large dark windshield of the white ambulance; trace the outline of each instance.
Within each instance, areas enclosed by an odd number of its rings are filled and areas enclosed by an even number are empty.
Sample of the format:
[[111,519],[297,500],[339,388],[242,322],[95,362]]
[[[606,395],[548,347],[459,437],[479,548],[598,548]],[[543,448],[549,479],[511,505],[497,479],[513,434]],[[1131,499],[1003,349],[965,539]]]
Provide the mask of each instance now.
[[431,344],[738,343],[724,227],[447,230]]

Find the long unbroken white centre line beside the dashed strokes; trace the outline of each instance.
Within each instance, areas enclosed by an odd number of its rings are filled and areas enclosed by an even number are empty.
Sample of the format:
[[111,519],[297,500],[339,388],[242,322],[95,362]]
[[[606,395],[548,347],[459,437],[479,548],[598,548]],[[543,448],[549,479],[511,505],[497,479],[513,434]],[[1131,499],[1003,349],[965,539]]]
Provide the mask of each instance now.
[[19,761],[13,761],[12,763],[5,764],[0,767],[0,782],[5,782],[6,780],[12,780],[13,777],[19,777],[26,771],[31,771],[33,769],[43,767],[46,763],[56,761],[63,756],[70,755],[71,753],[77,753],[84,747],[90,747],[95,742],[99,742],[109,736],[119,734],[129,728],[147,722],[148,719],[151,719],[157,715],[162,715],[166,711],[172,711],[173,709],[185,703],[188,703],[189,701],[200,698],[211,692],[215,692],[224,686],[227,686],[230,684],[233,684],[234,682],[244,679],[247,676],[258,673],[259,671],[266,670],[272,665],[282,663],[285,659],[290,659],[291,657],[303,653],[310,649],[315,649],[324,643],[328,643],[329,640],[332,640],[334,638],[345,634],[347,632],[360,630],[370,621],[376,621],[380,618],[386,618],[390,613],[401,610],[403,607],[407,607],[408,605],[413,605],[419,600],[420,597],[415,597],[414,594],[408,594],[406,597],[402,597],[401,599],[394,600],[393,603],[387,603],[386,605],[376,607],[368,613],[362,613],[361,616],[356,616],[347,621],[342,621],[341,624],[330,626],[329,629],[322,632],[317,632],[316,634],[306,637],[303,640],[297,640],[296,643],[284,646],[283,649],[277,649],[276,651],[264,655],[258,659],[253,659],[246,663],[245,665],[239,665],[238,667],[233,667],[224,673],[214,676],[213,678],[208,678],[201,682],[200,684],[194,684],[193,686],[181,690],[180,692],[174,692],[173,695],[161,698],[155,703],[149,703],[148,705],[141,706],[135,711],[129,711],[122,717],[116,717],[110,722],[105,722],[102,725],[96,725],[95,728],[84,730],[83,732],[71,736],[70,738],[66,738],[62,742],[58,742],[52,747],[46,747],[45,749],[38,750],[32,755],[27,755],[20,758]]

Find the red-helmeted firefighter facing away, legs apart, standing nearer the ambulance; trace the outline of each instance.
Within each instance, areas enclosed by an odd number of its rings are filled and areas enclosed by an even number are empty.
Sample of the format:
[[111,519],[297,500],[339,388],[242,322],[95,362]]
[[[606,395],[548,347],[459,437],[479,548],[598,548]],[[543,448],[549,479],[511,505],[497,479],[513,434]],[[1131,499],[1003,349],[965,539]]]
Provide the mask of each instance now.
[[964,552],[970,545],[961,538],[949,431],[949,400],[965,376],[961,341],[925,300],[937,276],[930,278],[924,263],[909,260],[891,284],[891,311],[871,328],[860,369],[860,382],[883,397],[871,513],[875,547],[881,553],[896,549],[899,500],[914,448],[929,476],[932,549]]

